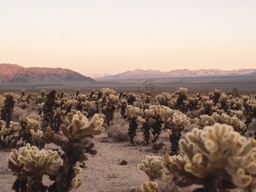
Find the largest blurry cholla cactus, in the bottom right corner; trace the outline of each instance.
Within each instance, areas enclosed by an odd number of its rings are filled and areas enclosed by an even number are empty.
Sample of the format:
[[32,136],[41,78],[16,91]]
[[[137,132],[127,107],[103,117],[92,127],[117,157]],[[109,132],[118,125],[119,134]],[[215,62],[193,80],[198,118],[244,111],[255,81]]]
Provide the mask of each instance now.
[[167,173],[178,186],[201,184],[201,191],[207,192],[256,189],[256,142],[230,125],[194,129],[180,141],[180,148],[184,156],[164,157]]

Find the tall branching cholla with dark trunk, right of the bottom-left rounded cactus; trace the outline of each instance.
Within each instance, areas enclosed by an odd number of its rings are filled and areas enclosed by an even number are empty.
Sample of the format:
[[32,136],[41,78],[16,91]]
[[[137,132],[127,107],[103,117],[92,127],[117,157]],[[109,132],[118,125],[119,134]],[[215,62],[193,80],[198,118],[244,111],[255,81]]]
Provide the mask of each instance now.
[[87,160],[86,153],[96,154],[92,138],[102,133],[103,119],[95,114],[88,120],[81,112],[67,114],[67,126],[61,126],[63,135],[56,134],[49,127],[44,132],[42,140],[44,143],[55,143],[60,146],[64,154],[63,166],[57,174],[55,183],[49,187],[49,191],[67,192],[76,189],[81,185],[81,180],[77,177],[77,162]]

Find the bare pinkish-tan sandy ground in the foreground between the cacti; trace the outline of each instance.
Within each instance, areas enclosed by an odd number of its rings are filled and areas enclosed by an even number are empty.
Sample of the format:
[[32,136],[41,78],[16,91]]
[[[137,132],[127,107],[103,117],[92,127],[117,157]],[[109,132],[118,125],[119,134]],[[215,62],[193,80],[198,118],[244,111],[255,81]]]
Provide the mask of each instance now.
[[[101,141],[102,139],[97,139]],[[150,147],[131,147],[127,143],[96,143],[98,154],[87,161],[88,168],[83,169],[84,187],[79,192],[128,192],[131,187],[139,187],[148,177],[138,171]],[[119,162],[126,160],[126,166]],[[86,187],[85,187],[86,186]]]

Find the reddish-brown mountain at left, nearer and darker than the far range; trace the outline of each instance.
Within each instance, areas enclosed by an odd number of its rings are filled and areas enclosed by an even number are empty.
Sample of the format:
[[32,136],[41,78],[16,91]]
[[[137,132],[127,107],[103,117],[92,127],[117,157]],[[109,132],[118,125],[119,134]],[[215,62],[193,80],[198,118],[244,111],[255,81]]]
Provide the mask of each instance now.
[[95,80],[65,68],[21,67],[16,64],[0,64],[0,83],[66,84],[74,82],[95,82]]

